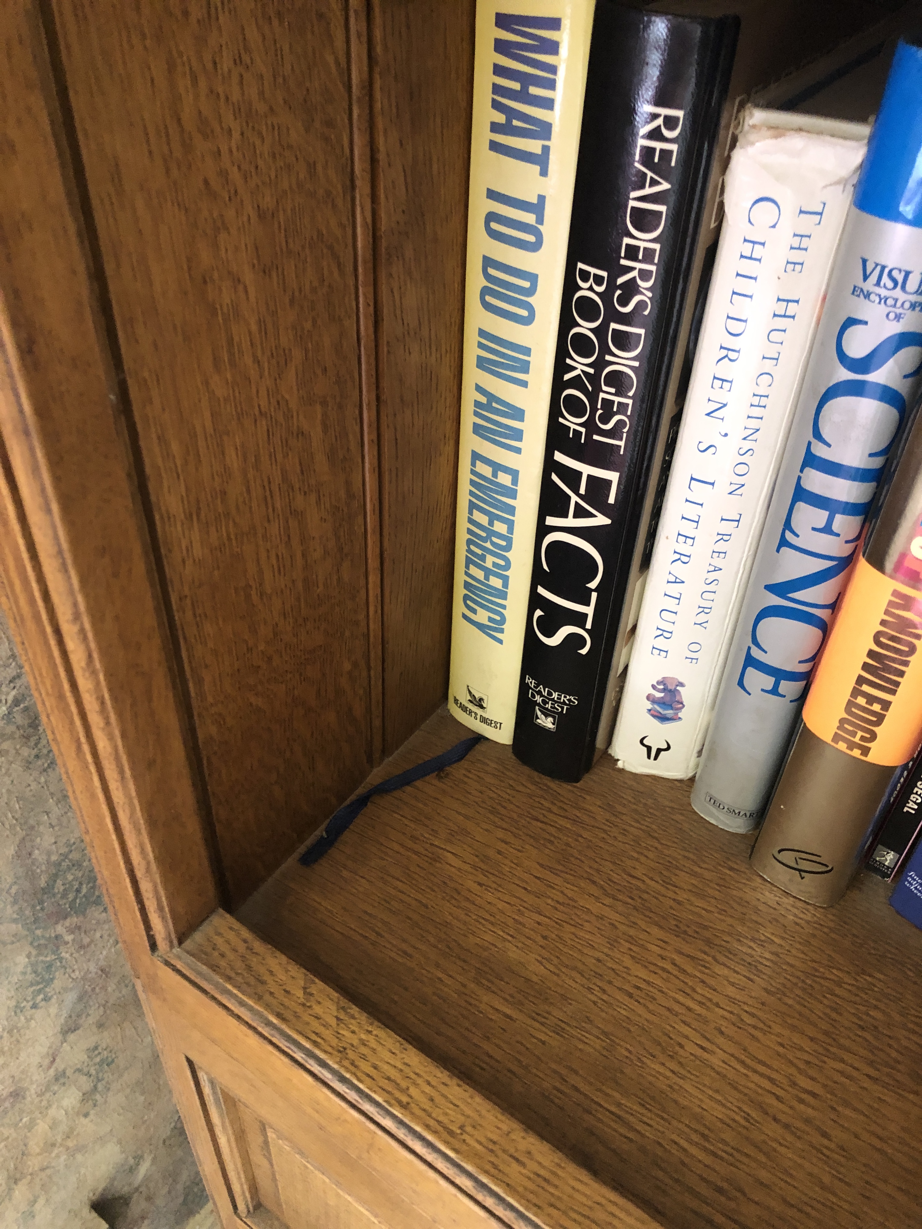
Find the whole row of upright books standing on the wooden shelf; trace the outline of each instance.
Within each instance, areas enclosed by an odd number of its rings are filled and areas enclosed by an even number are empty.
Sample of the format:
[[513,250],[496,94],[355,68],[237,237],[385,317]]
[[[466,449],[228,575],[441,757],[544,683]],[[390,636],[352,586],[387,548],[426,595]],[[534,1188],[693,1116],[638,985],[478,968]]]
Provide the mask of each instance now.
[[669,7],[478,4],[449,703],[831,903],[922,791],[922,45]]

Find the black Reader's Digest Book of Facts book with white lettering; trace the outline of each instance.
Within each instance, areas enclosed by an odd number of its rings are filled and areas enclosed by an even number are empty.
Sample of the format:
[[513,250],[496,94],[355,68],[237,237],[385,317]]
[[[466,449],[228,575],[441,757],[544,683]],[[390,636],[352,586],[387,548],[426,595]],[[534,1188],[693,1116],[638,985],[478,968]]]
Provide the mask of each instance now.
[[513,751],[593,763],[739,21],[599,0]]

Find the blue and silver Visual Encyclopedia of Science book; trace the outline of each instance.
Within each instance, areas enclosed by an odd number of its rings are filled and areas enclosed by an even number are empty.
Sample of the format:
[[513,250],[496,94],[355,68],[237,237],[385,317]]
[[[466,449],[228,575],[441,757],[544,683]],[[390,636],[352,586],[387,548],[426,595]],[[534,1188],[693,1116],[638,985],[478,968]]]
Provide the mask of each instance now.
[[[917,45],[918,44],[918,45]],[[900,42],[846,221],[692,805],[765,810],[922,383],[922,43]]]

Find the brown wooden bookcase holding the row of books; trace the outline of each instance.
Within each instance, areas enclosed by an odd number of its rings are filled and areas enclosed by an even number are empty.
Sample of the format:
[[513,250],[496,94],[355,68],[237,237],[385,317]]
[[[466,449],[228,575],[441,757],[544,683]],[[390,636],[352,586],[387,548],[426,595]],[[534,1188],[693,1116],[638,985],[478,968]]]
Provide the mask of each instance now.
[[293,858],[463,735],[472,28],[7,7],[2,601],[209,1193],[227,1229],[913,1224],[922,935],[879,881],[809,908],[687,784],[488,742]]

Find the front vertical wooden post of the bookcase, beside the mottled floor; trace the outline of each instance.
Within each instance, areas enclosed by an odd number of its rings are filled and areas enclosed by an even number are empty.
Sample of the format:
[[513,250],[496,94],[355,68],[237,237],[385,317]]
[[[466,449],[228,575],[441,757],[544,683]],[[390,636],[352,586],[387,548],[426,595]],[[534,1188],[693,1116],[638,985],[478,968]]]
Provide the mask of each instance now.
[[[136,964],[218,902],[48,50],[0,36],[2,559],[15,634]],[[118,855],[103,865],[108,839]],[[119,893],[123,875],[133,880]]]

